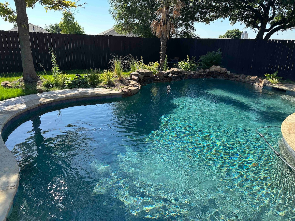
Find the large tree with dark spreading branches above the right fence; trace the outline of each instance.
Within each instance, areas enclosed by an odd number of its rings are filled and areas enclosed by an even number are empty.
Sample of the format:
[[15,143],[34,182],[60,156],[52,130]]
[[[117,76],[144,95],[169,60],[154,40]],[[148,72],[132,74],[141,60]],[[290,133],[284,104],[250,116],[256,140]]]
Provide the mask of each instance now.
[[295,27],[295,0],[194,0],[199,21],[229,18],[257,32],[256,39],[269,39],[278,31]]

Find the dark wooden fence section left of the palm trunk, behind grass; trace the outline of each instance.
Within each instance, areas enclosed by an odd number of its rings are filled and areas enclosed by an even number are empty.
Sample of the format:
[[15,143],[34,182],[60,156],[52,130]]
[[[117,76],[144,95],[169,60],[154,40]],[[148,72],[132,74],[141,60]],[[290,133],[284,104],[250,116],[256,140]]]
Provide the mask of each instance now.
[[[147,63],[160,57],[160,41],[157,38],[40,32],[30,32],[29,35],[36,70],[51,69],[50,48],[55,51],[61,70],[104,69],[108,67],[112,55],[143,56]],[[0,56],[0,73],[22,71],[18,32],[0,32]]]

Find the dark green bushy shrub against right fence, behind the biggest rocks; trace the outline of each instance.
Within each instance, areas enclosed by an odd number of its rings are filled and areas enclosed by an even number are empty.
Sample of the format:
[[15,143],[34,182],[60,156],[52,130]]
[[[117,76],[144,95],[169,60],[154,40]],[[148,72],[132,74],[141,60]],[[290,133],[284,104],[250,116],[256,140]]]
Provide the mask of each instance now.
[[213,65],[221,65],[222,51],[219,48],[217,51],[207,52],[206,55],[200,56],[198,60],[198,67],[202,69],[209,69]]

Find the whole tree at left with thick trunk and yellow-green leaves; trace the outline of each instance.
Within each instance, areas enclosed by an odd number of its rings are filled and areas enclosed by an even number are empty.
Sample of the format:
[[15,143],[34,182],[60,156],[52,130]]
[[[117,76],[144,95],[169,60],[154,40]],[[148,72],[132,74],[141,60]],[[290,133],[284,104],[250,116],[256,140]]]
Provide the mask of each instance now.
[[29,22],[27,8],[34,8],[36,4],[44,6],[46,11],[77,8],[78,0],[14,0],[16,10],[9,7],[8,2],[0,2],[0,16],[4,21],[16,22],[19,32],[19,44],[22,55],[22,69],[24,82],[37,81],[29,37]]

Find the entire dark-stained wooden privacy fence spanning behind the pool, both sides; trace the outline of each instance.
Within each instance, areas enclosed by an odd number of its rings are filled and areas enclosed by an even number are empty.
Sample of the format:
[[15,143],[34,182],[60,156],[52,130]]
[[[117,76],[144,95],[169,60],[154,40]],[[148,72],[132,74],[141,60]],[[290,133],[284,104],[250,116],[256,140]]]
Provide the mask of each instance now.
[[[36,70],[50,70],[49,48],[57,55],[61,70],[108,67],[112,55],[143,57],[145,63],[159,60],[160,40],[108,35],[51,34],[30,32],[33,62]],[[284,79],[295,80],[294,40],[255,39],[170,39],[168,60],[185,59],[187,55],[205,55],[222,50],[222,65],[234,73],[263,76],[279,71]],[[0,73],[22,71],[18,33],[0,32]],[[41,67],[41,65],[43,67]]]

